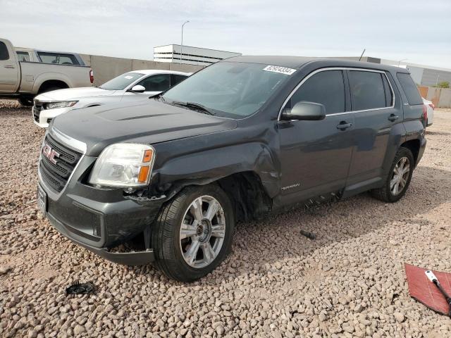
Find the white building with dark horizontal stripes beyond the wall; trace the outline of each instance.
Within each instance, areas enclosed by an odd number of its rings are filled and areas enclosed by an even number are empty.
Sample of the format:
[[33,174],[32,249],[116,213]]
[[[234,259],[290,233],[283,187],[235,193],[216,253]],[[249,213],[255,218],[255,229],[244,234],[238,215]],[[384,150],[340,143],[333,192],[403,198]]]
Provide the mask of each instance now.
[[192,46],[180,46],[180,44],[168,44],[154,47],[154,61],[188,63],[190,65],[210,65],[241,53],[231,51],[216,51],[215,49],[198,48]]

